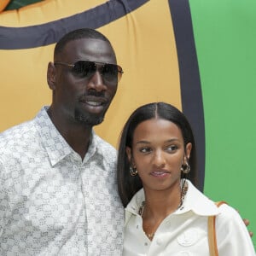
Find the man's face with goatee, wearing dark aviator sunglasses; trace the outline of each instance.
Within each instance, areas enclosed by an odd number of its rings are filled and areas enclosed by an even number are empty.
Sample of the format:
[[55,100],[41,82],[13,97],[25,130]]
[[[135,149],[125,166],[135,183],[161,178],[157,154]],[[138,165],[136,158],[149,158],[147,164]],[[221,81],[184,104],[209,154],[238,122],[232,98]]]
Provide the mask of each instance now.
[[[76,61],[96,61],[116,64],[112,47],[108,42],[81,38],[67,43],[55,62],[73,64]],[[113,96],[117,90],[117,80],[109,82],[102,75],[102,65],[96,64],[96,71],[90,75],[76,72],[72,67],[51,63],[55,83],[53,90],[53,108],[70,122],[85,125],[102,123]],[[82,66],[83,67],[83,66]]]

